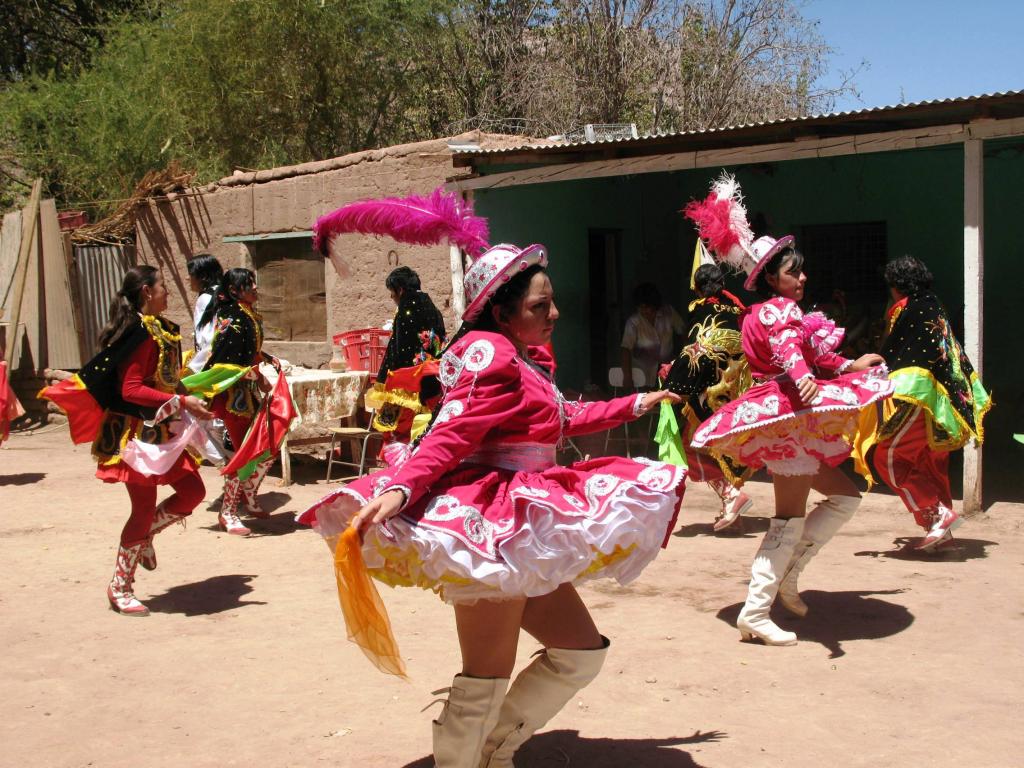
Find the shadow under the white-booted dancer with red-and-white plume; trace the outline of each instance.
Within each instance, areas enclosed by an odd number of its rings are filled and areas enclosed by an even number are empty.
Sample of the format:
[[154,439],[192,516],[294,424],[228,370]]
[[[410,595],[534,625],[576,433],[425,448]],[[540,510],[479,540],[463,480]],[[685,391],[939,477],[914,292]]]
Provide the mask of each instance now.
[[[804,591],[800,596],[807,603],[805,618],[788,616],[776,604],[772,621],[790,632],[796,632],[800,642],[820,643],[828,649],[829,658],[846,655],[847,640],[874,640],[896,635],[911,624],[913,614],[904,606],[879,600],[872,595],[898,595],[902,590],[883,592],[818,592]],[[742,603],[722,608],[718,617],[735,627]],[[737,631],[738,637],[738,631]],[[760,642],[760,641],[758,641]]]

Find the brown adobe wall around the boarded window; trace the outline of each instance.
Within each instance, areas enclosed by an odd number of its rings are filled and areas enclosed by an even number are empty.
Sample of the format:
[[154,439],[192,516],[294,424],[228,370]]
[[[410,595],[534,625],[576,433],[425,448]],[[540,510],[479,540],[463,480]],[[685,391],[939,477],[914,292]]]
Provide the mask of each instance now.
[[[457,137],[484,147],[518,145],[521,136],[472,132]],[[220,181],[167,200],[150,201],[137,216],[137,253],[142,263],[159,266],[170,290],[167,316],[182,327],[185,349],[191,345],[191,307],[186,260],[212,253],[225,269],[252,268],[249,250],[225,237],[312,228],[317,216],[365,198],[426,194],[466,169],[452,166],[447,138],[347,155],[300,166],[253,173],[236,172]],[[327,328],[324,342],[268,342],[267,350],[317,367],[330,359],[330,335],[380,327],[394,314],[384,279],[396,264],[411,266],[424,290],[445,315],[450,332],[452,278],[449,247],[406,246],[386,239],[341,236],[333,248],[344,264],[339,274],[325,260]]]

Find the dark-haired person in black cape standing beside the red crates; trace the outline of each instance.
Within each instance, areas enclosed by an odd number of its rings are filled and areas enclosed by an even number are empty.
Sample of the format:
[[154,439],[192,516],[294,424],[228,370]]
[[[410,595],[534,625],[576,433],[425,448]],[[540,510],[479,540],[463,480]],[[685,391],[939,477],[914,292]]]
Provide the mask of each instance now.
[[[439,387],[436,376],[406,371],[435,359],[444,344],[444,319],[430,296],[420,290],[420,275],[408,266],[392,269],[384,281],[397,305],[391,338],[377,373],[375,394],[382,404],[374,427],[393,440],[408,442],[413,419],[429,414]],[[393,374],[398,375],[395,377]]]

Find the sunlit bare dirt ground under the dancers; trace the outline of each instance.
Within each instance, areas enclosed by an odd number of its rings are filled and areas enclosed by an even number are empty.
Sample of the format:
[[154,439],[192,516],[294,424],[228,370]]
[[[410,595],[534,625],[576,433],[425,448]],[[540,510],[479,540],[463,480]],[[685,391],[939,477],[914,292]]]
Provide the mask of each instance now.
[[[201,506],[139,571],[148,618],[104,588],[127,516],[66,428],[0,450],[0,765],[428,768],[430,691],[458,671],[451,610],[388,590],[410,682],[345,640],[328,550],[293,515],[326,486],[269,478],[273,510],[237,539]],[[204,469],[207,499],[219,494]],[[752,483],[756,514],[771,488]],[[908,514],[872,494],[801,582],[800,643],[732,626],[767,521],[713,536],[688,487],[681,529],[627,588],[583,594],[612,644],[602,675],[521,753],[522,766],[1019,766],[1024,508],[996,504],[941,556],[901,550]],[[536,649],[524,638],[520,663]]]

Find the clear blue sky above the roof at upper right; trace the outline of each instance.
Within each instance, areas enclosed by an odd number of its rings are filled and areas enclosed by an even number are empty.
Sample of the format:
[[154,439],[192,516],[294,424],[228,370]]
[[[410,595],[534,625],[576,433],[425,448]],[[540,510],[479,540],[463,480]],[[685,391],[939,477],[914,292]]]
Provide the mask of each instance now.
[[1024,90],[1024,0],[807,0],[803,14],[836,49],[825,84],[867,62],[837,111]]

